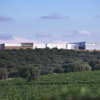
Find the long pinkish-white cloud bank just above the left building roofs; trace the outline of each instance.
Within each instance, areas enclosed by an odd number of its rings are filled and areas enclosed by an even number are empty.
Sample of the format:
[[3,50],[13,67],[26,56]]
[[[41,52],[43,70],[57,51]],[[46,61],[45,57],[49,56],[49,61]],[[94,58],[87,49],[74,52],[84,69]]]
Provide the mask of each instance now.
[[19,37],[12,37],[13,39],[5,40],[5,39],[0,39],[0,44],[1,43],[23,43],[23,42],[28,42],[28,43],[41,43],[40,41],[37,40],[28,40],[26,38],[19,38]]

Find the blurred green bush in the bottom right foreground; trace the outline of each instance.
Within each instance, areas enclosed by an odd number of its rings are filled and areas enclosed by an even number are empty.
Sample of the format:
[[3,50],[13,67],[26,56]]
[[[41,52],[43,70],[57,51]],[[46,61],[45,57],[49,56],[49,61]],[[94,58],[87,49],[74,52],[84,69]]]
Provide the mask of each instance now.
[[[58,100],[57,96],[41,98],[39,100]],[[87,88],[77,90],[64,89],[59,95],[59,100],[100,100],[100,96],[95,96]]]

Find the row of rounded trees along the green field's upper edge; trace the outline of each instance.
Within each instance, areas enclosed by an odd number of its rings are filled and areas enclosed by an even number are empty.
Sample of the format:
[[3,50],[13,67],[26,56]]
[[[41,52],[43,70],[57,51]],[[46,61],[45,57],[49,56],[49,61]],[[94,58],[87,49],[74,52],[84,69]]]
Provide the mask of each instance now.
[[45,74],[53,74],[53,73],[69,73],[69,72],[77,72],[77,71],[92,71],[100,69],[100,61],[91,60],[88,63],[76,62],[76,63],[68,63],[63,65],[62,67],[56,67],[52,70],[39,70],[36,67],[22,66],[18,71],[8,73],[6,68],[0,68],[0,80],[6,79],[7,77],[22,77],[25,78],[28,82],[31,80],[35,80],[39,78],[40,75]]

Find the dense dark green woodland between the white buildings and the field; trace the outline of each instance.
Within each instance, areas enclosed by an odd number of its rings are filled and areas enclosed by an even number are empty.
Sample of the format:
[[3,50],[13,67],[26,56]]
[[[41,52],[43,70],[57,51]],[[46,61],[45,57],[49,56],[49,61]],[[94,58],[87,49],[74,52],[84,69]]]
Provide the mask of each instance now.
[[0,70],[4,69],[4,72],[8,73],[8,77],[20,77],[19,70],[25,67],[38,69],[41,75],[99,70],[100,52],[57,48],[0,51]]

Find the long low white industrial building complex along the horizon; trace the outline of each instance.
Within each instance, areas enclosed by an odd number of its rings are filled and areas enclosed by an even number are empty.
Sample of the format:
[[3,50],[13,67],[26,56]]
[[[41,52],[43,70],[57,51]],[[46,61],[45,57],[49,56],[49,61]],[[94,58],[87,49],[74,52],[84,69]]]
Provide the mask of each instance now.
[[35,43],[19,43],[10,44],[4,43],[0,44],[0,50],[6,49],[27,49],[27,48],[58,48],[58,49],[73,49],[73,50],[100,50],[100,42],[76,42],[68,44],[35,44]]

